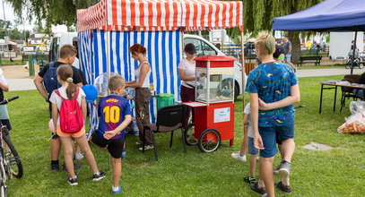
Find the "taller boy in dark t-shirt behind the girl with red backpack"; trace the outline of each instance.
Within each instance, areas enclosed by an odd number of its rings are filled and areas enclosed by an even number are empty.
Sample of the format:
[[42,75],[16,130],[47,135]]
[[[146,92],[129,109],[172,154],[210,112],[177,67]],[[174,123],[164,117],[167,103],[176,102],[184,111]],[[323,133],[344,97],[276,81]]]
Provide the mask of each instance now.
[[[74,79],[74,84],[76,84],[76,86],[78,87],[83,87],[83,81],[82,78],[80,77],[79,72],[77,71],[77,68],[75,68],[73,65],[74,63],[74,58],[76,56],[76,49],[74,48],[74,46],[72,45],[64,45],[63,47],[61,47],[60,52],[59,52],[59,59],[54,63],[54,65],[56,67],[58,67],[61,64],[69,64],[72,68],[73,68],[73,79]],[[37,90],[39,91],[40,95],[46,99],[46,101],[48,101],[50,94],[48,95],[48,92],[46,90],[46,88],[44,87],[43,84],[43,76],[45,75],[45,73],[48,71],[49,69],[49,64],[47,64],[36,76],[36,78],[34,78],[34,84],[37,87]],[[51,107],[50,107],[50,103],[49,103],[49,114],[51,115]],[[50,142],[50,150],[51,150],[51,171],[58,171],[59,170],[59,163],[58,163],[58,158],[59,158],[59,152],[61,150],[61,141],[59,140],[59,137],[56,135],[56,133],[54,133],[52,135],[52,140]]]

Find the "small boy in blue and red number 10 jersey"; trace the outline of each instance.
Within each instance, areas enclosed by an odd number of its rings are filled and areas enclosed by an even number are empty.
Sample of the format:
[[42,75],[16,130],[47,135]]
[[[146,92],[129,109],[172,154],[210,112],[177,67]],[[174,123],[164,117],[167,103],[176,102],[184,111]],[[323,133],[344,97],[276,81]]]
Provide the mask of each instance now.
[[120,193],[120,176],[122,174],[122,154],[125,141],[126,126],[132,121],[131,107],[127,99],[121,97],[126,82],[120,75],[109,78],[110,94],[100,100],[98,107],[99,128],[92,134],[91,141],[108,150],[113,167],[112,194]]

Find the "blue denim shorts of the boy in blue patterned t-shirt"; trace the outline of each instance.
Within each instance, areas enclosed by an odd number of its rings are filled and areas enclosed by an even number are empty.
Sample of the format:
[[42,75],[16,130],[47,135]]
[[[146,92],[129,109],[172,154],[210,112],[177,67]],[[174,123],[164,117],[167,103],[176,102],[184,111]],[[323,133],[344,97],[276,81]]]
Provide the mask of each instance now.
[[282,141],[294,139],[294,121],[288,124],[272,127],[258,127],[258,132],[264,142],[264,150],[260,150],[260,156],[263,158],[272,158],[278,152],[276,143],[282,144]]

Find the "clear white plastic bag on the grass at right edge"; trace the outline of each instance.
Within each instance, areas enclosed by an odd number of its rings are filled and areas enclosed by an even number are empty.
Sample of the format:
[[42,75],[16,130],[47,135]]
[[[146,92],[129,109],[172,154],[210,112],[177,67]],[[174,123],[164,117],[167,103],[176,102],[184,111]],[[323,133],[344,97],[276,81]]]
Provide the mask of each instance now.
[[365,102],[350,103],[351,116],[344,118],[346,122],[337,128],[338,133],[365,133]]

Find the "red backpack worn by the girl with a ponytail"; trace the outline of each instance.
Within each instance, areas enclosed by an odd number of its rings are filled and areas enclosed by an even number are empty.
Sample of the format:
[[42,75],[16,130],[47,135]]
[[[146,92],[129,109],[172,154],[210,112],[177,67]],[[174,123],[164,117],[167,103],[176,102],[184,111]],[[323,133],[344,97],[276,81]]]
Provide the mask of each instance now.
[[64,99],[58,90],[54,90],[62,99],[59,109],[59,124],[63,133],[77,133],[83,128],[83,112],[77,102],[80,88],[77,87],[73,99]]

